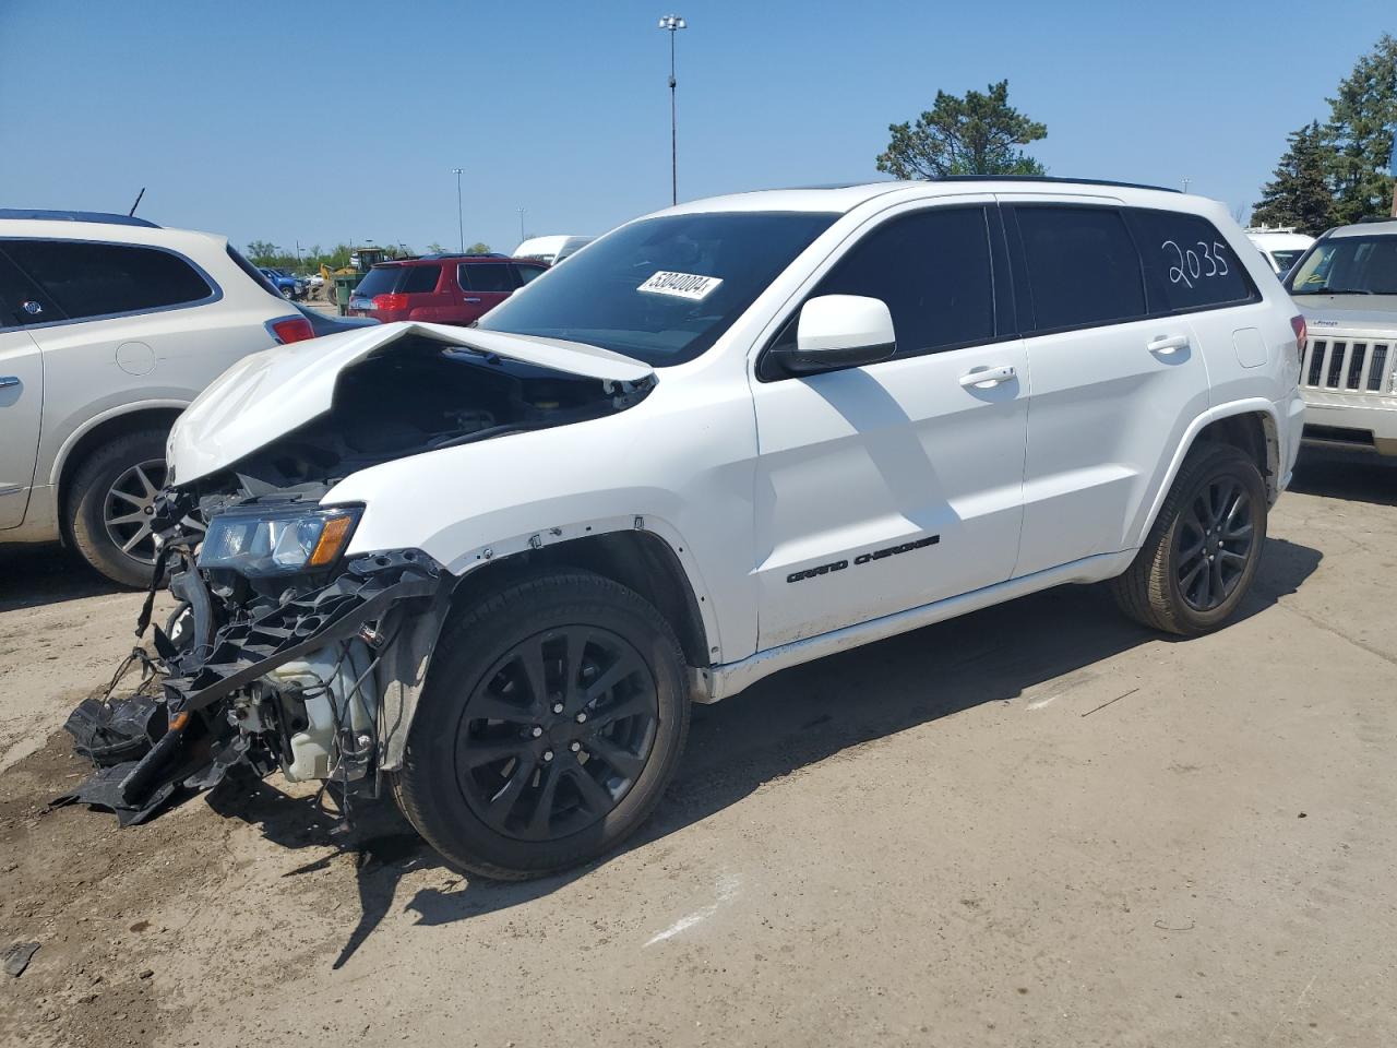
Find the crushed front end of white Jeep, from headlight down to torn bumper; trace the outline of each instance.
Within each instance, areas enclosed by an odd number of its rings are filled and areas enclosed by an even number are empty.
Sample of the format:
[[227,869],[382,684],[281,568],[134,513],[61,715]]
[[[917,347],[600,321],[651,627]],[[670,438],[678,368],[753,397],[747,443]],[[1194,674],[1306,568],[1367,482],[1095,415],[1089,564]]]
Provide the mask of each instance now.
[[[108,808],[127,826],[180,787],[208,789],[235,770],[261,777],[274,769],[291,781],[376,795],[390,743],[401,753],[404,699],[422,685],[451,577],[414,549],[323,555],[323,565],[296,574],[257,574],[247,555],[237,567],[219,566],[207,552],[211,538],[253,549],[264,539],[261,548],[275,552],[265,539],[298,527],[313,539],[313,560],[352,511],[307,514],[251,499],[221,507],[204,527],[189,502],[166,492],[156,504],[179,605],[163,629],[151,627],[152,590],[138,633],[152,629],[155,657],[129,660],[142,664],[141,685],[123,697],[88,699],[68,718],[77,752],[98,771],[59,801]],[[328,521],[319,535],[305,525],[314,514]]]

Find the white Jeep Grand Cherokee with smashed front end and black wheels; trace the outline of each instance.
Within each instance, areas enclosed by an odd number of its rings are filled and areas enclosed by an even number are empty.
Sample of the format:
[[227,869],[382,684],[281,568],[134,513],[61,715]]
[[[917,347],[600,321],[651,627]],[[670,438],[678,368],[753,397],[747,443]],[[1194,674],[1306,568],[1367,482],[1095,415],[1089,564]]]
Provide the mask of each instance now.
[[974,179],[686,204],[474,330],[247,358],[170,437],[169,727],[109,803],[381,783],[532,876],[636,829],[690,700],[1062,583],[1215,629],[1302,337],[1213,201]]

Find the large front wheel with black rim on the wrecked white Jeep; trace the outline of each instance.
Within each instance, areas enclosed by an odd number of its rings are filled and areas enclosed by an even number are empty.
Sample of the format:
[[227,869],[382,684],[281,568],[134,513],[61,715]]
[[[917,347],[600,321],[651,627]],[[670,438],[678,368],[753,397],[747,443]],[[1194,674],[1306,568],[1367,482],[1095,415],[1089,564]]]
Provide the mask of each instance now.
[[447,625],[394,792],[455,866],[543,876],[640,826],[687,731],[683,654],[661,615],[597,574],[541,576]]

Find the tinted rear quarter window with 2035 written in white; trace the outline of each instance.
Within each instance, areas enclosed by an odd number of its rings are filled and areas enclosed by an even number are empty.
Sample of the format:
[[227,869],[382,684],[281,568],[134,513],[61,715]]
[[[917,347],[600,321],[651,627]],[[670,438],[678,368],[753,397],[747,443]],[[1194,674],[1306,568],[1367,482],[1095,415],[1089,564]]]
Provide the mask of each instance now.
[[[1151,313],[1250,302],[1252,281],[1222,233],[1201,215],[1129,208],[1126,218],[1150,277]],[[1158,296],[1162,302],[1154,302]]]

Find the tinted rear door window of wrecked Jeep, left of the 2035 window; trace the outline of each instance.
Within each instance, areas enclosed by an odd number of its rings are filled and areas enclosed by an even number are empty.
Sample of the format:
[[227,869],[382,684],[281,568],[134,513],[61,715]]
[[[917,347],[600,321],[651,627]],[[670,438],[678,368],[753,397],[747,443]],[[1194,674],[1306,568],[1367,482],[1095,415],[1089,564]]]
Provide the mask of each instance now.
[[1109,207],[1014,208],[1028,267],[1034,330],[1055,331],[1143,317],[1140,256]]

